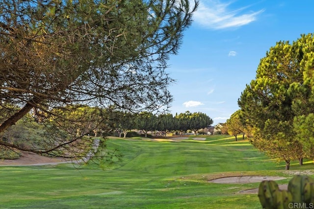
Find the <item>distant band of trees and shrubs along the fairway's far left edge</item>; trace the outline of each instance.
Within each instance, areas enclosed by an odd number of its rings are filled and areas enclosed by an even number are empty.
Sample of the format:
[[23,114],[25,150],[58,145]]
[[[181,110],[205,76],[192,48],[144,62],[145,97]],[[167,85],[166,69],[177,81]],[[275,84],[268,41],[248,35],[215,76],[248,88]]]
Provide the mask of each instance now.
[[[67,109],[71,108],[67,107]],[[58,111],[60,112],[60,110]],[[45,113],[41,115],[35,112],[27,114],[14,127],[8,128],[3,133],[2,141],[15,144],[20,149],[28,149],[30,146],[39,149],[50,143],[65,143],[69,142],[72,137],[81,138],[86,135],[98,137],[118,133],[121,137],[123,133],[126,137],[131,130],[140,130],[145,137],[148,132],[155,131],[166,135],[170,131],[185,133],[187,130],[191,130],[196,134],[199,129],[212,124],[211,118],[206,114],[188,111],[173,116],[172,114],[154,115],[149,112],[134,114],[121,110],[109,111],[98,107],[80,106],[73,108],[72,112],[64,111],[62,114],[63,120],[59,120],[58,124],[48,118]],[[70,120],[72,123],[64,122],[64,120]],[[59,126],[63,128],[59,129]],[[85,145],[90,144],[85,143]],[[78,148],[78,144],[75,147],[67,147],[68,150],[72,148]]]

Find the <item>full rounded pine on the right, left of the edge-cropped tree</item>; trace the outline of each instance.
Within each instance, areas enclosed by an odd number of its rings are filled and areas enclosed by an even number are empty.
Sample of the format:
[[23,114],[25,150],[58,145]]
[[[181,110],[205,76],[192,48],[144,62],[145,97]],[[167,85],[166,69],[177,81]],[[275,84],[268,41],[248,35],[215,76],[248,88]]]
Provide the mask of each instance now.
[[248,125],[255,129],[253,144],[286,162],[302,159],[302,146],[293,132],[291,83],[302,82],[302,53],[297,42],[280,41],[261,59],[256,79],[241,93],[238,104]]

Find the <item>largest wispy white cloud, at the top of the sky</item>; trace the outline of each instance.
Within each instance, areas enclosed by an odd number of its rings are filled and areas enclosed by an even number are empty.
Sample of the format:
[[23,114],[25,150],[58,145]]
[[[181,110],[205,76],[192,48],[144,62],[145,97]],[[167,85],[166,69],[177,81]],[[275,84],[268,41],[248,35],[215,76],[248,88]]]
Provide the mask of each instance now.
[[257,16],[264,11],[243,12],[248,6],[230,10],[229,5],[219,0],[204,0],[194,13],[194,21],[211,29],[240,27],[256,21]]

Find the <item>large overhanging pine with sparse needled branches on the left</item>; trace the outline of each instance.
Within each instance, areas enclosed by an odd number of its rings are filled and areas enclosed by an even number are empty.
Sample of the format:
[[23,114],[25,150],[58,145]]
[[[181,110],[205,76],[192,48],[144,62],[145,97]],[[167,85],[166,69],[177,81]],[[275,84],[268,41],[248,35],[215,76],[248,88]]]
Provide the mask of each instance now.
[[[60,131],[59,118],[73,125],[63,117],[73,111],[69,105],[115,105],[133,112],[167,107],[172,79],[166,61],[178,53],[197,5],[190,7],[189,0],[2,0],[0,137],[31,110],[44,113],[45,122],[55,120]],[[52,154],[81,139],[71,136],[25,150]],[[22,149],[3,140],[0,145]]]

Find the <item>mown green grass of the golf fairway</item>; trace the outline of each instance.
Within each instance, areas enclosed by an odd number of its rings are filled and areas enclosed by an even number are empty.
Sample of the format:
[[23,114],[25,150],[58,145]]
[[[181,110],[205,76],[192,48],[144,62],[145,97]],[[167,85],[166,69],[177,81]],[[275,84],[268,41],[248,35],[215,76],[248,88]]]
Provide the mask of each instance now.
[[[191,136],[193,138],[193,136]],[[253,184],[215,184],[236,175],[279,175],[277,164],[247,140],[210,136],[205,141],[157,142],[112,138],[123,160],[106,170],[71,164],[0,167],[0,208],[23,209],[260,209]],[[296,162],[293,162],[296,163]],[[292,164],[293,164],[292,163]],[[313,169],[313,164],[290,169]]]

